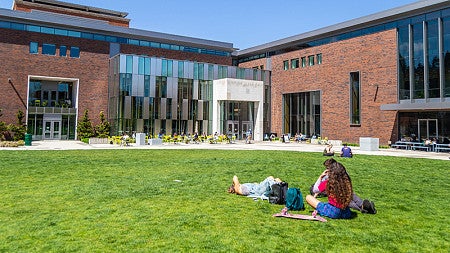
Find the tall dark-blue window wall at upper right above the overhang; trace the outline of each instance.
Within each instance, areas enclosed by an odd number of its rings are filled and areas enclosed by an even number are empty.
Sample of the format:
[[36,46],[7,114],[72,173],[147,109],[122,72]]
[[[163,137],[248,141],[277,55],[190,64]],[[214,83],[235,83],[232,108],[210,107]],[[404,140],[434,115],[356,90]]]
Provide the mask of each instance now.
[[399,100],[450,97],[449,16],[443,10],[399,22]]

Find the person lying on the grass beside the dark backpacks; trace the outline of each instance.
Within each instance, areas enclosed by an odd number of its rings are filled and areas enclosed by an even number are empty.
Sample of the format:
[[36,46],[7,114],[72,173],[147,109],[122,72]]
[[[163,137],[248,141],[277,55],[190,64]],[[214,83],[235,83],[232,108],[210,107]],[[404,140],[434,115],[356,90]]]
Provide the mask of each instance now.
[[276,182],[281,182],[281,179],[269,176],[260,183],[241,184],[238,177],[235,175],[233,177],[233,183],[228,188],[228,193],[235,193],[237,195],[248,197],[268,197],[271,186]]

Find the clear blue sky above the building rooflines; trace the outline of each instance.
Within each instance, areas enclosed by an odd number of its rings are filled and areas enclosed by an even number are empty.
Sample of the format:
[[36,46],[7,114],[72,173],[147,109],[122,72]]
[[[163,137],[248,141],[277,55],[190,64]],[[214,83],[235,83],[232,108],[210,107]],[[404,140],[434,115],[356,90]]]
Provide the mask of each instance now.
[[[12,0],[0,0],[10,9]],[[128,12],[130,27],[245,49],[416,0],[65,0]]]

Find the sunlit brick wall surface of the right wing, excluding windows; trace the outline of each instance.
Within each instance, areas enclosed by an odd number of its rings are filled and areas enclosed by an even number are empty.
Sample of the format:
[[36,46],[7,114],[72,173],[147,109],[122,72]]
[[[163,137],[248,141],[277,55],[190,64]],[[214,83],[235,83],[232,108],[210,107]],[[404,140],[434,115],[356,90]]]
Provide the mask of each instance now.
[[[283,61],[322,54],[322,64],[283,69]],[[321,91],[321,135],[359,143],[359,137],[380,138],[380,145],[396,140],[396,112],[381,111],[397,102],[396,31],[306,48],[272,56],[272,131],[282,133],[282,96]],[[254,67],[259,59],[240,64]],[[308,65],[308,64],[307,64]],[[350,125],[350,72],[360,72],[361,125]]]

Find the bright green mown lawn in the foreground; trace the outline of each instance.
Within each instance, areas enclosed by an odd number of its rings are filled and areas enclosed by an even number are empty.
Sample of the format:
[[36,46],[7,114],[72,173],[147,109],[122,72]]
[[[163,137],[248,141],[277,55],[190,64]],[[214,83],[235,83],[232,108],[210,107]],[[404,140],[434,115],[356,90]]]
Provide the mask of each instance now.
[[[280,177],[304,197],[321,153],[221,150],[0,151],[0,252],[448,252],[450,161],[342,162],[376,215],[274,218],[228,194]],[[298,213],[309,214],[307,207]]]

